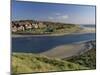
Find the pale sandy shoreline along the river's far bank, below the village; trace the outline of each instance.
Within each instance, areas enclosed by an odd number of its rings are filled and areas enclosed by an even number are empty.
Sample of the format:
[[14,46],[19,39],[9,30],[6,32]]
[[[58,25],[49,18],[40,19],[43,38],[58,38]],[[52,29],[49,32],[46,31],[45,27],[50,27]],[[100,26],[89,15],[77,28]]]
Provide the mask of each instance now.
[[88,34],[88,33],[96,33],[95,28],[84,28],[80,30],[79,32],[73,32],[73,33],[54,33],[54,34],[12,34],[11,37],[17,38],[17,37],[37,37],[37,36],[63,36],[63,35],[73,35],[73,34]]

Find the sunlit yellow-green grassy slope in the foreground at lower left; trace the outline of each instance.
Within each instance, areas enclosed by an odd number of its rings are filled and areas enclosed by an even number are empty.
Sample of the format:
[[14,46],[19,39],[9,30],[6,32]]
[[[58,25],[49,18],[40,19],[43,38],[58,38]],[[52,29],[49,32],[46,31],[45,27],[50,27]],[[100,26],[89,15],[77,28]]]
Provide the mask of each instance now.
[[45,56],[27,53],[13,53],[12,55],[13,74],[84,69],[89,68],[61,59],[51,59]]

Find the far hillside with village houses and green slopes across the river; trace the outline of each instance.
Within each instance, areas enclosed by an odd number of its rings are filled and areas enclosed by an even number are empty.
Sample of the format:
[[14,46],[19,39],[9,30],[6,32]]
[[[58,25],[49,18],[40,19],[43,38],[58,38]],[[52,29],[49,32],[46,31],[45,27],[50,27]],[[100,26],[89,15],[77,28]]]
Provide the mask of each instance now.
[[12,33],[21,35],[40,35],[73,33],[80,30],[79,25],[32,20],[12,21]]

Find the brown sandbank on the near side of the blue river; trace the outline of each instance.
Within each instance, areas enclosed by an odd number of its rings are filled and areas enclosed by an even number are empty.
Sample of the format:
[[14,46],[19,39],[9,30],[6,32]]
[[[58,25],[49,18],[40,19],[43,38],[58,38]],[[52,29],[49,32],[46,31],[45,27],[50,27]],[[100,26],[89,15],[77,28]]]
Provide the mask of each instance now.
[[92,46],[86,47],[87,43],[74,43],[68,45],[61,45],[52,48],[46,52],[40,53],[40,55],[45,55],[51,58],[67,58],[70,56],[79,55],[86,50],[90,50]]

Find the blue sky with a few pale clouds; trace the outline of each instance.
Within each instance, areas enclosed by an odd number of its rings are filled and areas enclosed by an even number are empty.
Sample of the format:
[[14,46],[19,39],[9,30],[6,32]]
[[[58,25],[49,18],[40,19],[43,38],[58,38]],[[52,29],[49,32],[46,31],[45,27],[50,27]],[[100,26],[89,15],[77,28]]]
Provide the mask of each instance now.
[[12,0],[11,19],[95,24],[95,6]]

